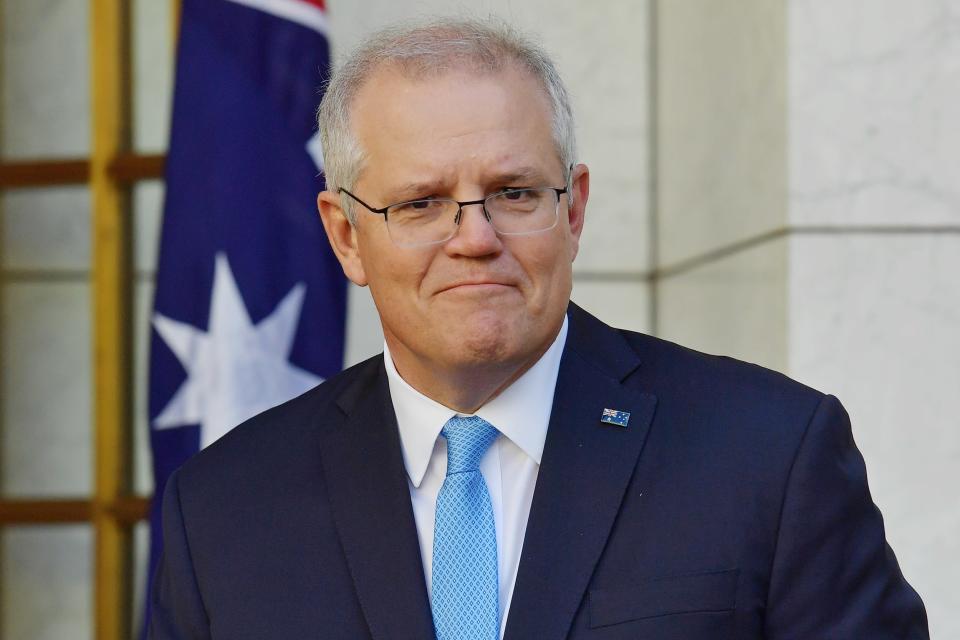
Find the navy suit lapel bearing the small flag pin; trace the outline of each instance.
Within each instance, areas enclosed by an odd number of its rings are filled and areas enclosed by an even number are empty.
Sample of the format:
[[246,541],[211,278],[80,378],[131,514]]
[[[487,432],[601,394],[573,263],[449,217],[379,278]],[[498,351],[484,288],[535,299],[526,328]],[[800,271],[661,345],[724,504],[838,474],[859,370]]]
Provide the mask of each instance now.
[[[639,366],[613,329],[574,305],[523,543],[508,639],[567,635],[630,483],[656,397],[621,382]],[[600,422],[630,413],[626,427]]]

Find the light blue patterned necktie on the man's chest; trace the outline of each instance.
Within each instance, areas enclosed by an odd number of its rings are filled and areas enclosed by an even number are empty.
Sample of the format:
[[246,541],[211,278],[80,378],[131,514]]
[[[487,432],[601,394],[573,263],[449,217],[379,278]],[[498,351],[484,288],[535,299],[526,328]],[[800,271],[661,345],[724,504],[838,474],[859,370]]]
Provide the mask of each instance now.
[[497,531],[480,458],[498,432],[471,416],[450,418],[440,433],[447,477],[433,534],[433,626],[437,640],[497,640]]

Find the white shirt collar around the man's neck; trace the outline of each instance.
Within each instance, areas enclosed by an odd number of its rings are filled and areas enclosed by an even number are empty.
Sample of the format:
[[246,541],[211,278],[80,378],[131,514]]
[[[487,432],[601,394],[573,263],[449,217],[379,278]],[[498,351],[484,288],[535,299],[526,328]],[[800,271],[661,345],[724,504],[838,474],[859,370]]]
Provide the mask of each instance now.
[[[550,348],[513,384],[474,414],[495,426],[538,465],[543,456],[553,392],[566,341],[567,317],[564,315],[563,325]],[[383,364],[400,430],[403,463],[410,481],[419,487],[440,430],[457,412],[407,384],[397,372],[386,343],[383,345]]]

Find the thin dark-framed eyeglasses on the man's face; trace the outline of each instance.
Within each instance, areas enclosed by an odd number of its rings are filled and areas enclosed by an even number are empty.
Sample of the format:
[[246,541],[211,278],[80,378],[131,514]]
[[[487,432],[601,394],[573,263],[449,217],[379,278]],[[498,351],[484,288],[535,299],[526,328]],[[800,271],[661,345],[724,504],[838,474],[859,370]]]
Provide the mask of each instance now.
[[446,242],[457,234],[463,207],[483,206],[483,215],[500,235],[520,236],[549,231],[557,226],[560,196],[566,188],[504,189],[482,200],[459,202],[452,198],[428,198],[398,202],[375,209],[346,189],[345,193],[373,213],[383,216],[387,233],[401,247]]

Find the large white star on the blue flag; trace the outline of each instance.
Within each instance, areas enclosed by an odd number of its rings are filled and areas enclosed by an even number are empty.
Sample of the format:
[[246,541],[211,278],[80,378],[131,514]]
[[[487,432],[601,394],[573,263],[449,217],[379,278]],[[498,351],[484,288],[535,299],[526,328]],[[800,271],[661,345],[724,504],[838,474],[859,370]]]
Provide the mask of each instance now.
[[216,256],[209,327],[204,332],[159,313],[153,326],[187,370],[187,379],[153,426],[200,425],[200,447],[234,426],[323,382],[287,360],[306,286],[296,284],[273,312],[250,321],[226,255]]

